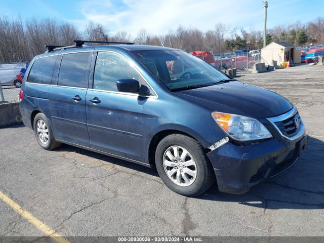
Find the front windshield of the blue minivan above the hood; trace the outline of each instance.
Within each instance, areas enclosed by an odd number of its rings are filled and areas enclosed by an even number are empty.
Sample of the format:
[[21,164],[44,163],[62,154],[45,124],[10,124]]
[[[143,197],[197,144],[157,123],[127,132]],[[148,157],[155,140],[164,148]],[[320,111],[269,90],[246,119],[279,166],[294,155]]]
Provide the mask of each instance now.
[[184,51],[141,50],[131,53],[170,90],[210,86],[229,79],[205,61]]

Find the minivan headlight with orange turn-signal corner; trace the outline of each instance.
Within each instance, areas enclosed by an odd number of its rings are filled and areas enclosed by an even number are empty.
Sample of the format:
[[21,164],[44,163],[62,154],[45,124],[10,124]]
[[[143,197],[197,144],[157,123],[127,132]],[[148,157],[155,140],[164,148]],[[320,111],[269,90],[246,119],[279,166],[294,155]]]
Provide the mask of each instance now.
[[213,112],[212,116],[225,133],[233,139],[251,141],[272,137],[257,119],[221,112]]

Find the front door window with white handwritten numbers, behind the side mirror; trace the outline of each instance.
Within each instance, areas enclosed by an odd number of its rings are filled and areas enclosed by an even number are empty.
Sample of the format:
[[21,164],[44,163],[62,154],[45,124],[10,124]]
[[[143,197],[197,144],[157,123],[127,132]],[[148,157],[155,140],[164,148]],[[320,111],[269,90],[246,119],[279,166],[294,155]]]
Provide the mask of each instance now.
[[129,61],[118,54],[99,52],[96,61],[93,88],[96,90],[118,91],[118,79],[135,78],[140,81],[139,73]]

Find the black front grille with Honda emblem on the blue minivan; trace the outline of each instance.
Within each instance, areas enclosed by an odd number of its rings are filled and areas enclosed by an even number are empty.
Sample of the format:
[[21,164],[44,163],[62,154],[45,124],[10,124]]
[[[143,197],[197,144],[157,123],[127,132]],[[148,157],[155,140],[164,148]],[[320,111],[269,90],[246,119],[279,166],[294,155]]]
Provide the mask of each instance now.
[[295,115],[289,117],[288,119],[276,121],[274,124],[280,130],[282,135],[286,137],[293,137],[300,131],[302,127],[302,120],[299,116],[299,113],[297,112]]

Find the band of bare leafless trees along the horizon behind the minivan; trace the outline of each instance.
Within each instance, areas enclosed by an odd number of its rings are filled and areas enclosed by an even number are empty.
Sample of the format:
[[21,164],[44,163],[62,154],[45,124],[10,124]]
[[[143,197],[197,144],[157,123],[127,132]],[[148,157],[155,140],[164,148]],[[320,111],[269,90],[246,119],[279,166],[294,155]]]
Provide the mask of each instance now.
[[[313,44],[324,44],[324,18],[317,18],[306,24],[300,22],[289,25],[278,25],[268,29],[273,40],[290,41],[300,44],[307,39]],[[45,51],[45,45],[73,45],[75,39],[94,41],[131,42],[132,36],[127,32],[109,31],[101,24],[89,22],[84,33],[77,27],[65,21],[56,19],[9,19],[0,16],[0,62],[30,61],[37,54]],[[226,39],[225,39],[226,38]],[[140,29],[135,42],[143,45],[156,45],[178,48],[188,52],[196,50],[223,53],[233,48],[248,48],[250,50],[262,47],[262,32],[245,28],[230,28],[218,23],[213,30],[203,32],[196,28],[186,28],[179,25],[164,35],[152,35],[145,29]]]

